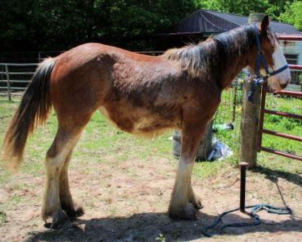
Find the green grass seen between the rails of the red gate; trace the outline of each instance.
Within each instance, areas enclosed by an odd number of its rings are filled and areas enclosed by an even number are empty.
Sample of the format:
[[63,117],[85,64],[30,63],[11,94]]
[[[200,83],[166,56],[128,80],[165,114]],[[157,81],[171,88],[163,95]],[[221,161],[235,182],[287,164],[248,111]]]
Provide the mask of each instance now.
[[[266,108],[301,115],[302,100],[269,95],[266,101]],[[264,120],[264,129],[302,137],[302,120],[277,115],[265,115]],[[264,147],[274,148],[302,156],[302,144],[298,141],[271,135],[263,135],[262,145]],[[261,153],[258,153],[258,165],[260,169],[258,171],[261,173],[283,177],[293,181],[295,184],[302,184],[301,161],[262,151]]]

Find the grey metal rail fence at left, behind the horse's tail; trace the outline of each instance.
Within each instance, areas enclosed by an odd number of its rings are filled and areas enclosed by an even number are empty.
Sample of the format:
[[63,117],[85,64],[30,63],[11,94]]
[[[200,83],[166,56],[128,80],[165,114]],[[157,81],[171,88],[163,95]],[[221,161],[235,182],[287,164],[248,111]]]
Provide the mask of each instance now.
[[[36,69],[38,65],[39,64],[37,63],[0,63],[0,68],[2,70],[0,72],[0,90],[3,90],[0,95],[8,96],[10,101],[12,100],[12,96],[22,96],[23,93],[20,93],[20,91],[24,91],[26,89],[26,86],[31,82],[31,78],[35,74],[35,72],[24,70],[16,71],[16,68],[31,67],[31,69]],[[10,71],[13,67],[15,68],[15,70]],[[5,83],[6,85],[3,86],[1,85],[2,83]],[[15,86],[15,83],[18,83],[18,86]]]

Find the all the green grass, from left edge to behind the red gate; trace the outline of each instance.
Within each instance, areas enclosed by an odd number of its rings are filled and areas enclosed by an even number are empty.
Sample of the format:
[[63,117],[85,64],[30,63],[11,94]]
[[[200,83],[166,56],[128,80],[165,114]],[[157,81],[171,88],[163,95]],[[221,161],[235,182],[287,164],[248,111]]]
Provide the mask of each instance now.
[[[231,102],[234,93],[232,89],[223,92],[222,102],[215,116],[216,124],[230,122],[233,115],[233,103]],[[5,128],[17,108],[19,102],[0,101],[0,143],[3,143]],[[288,111],[302,114],[302,100],[279,98],[268,95],[267,108]],[[229,145],[234,152],[232,157],[224,161],[215,162],[196,162],[193,174],[197,177],[212,177],[225,164],[231,164],[236,167],[239,162],[240,148],[240,118],[241,104],[236,106],[236,119],[233,123],[234,131],[219,131],[215,138]],[[302,122],[279,117],[275,115],[265,116],[266,129],[276,130],[282,133],[294,134],[302,137]],[[44,170],[44,156],[51,145],[57,128],[56,116],[52,112],[47,123],[39,127],[36,132],[29,138],[26,146],[26,162],[23,163],[21,171],[40,176]],[[176,163],[177,160],[172,157],[172,141],[169,139],[172,132],[168,132],[154,140],[134,137],[116,129],[108,120],[99,112],[96,112],[91,122],[85,129],[77,147],[74,150],[73,157],[89,162],[110,162],[116,159],[123,162],[130,159],[140,159],[148,162],[149,159],[165,158],[170,163]],[[266,147],[280,149],[297,155],[302,155],[302,146],[300,142],[286,140],[283,138],[265,135],[263,145]],[[258,164],[269,170],[279,172],[290,172],[295,174],[302,173],[302,166],[299,161],[275,156],[266,152],[258,154]],[[74,165],[71,162],[71,166]],[[92,169],[92,168],[91,168]],[[89,171],[88,171],[89,172]],[[7,183],[10,179],[9,172],[0,170],[0,184]]]

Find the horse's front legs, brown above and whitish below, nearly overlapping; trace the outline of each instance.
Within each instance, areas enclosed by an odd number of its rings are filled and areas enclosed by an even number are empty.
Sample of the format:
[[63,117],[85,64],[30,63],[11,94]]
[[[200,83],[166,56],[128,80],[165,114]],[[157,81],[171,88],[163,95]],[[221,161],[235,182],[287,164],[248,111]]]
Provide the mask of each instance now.
[[197,210],[202,208],[200,199],[192,189],[191,174],[205,125],[206,123],[188,126],[182,131],[181,155],[168,211],[170,217],[196,219]]

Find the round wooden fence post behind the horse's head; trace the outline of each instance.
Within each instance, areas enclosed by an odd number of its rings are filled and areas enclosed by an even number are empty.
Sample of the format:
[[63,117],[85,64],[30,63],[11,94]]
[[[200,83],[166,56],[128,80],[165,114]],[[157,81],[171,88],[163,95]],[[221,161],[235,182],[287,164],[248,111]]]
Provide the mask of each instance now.
[[[265,14],[252,13],[249,16],[249,23],[261,22]],[[256,60],[255,60],[256,61]],[[257,137],[259,128],[260,99],[261,87],[256,86],[254,92],[254,102],[248,101],[248,92],[251,88],[251,81],[245,80],[242,119],[241,119],[241,136],[240,136],[240,160],[247,162],[248,167],[257,164]]]

